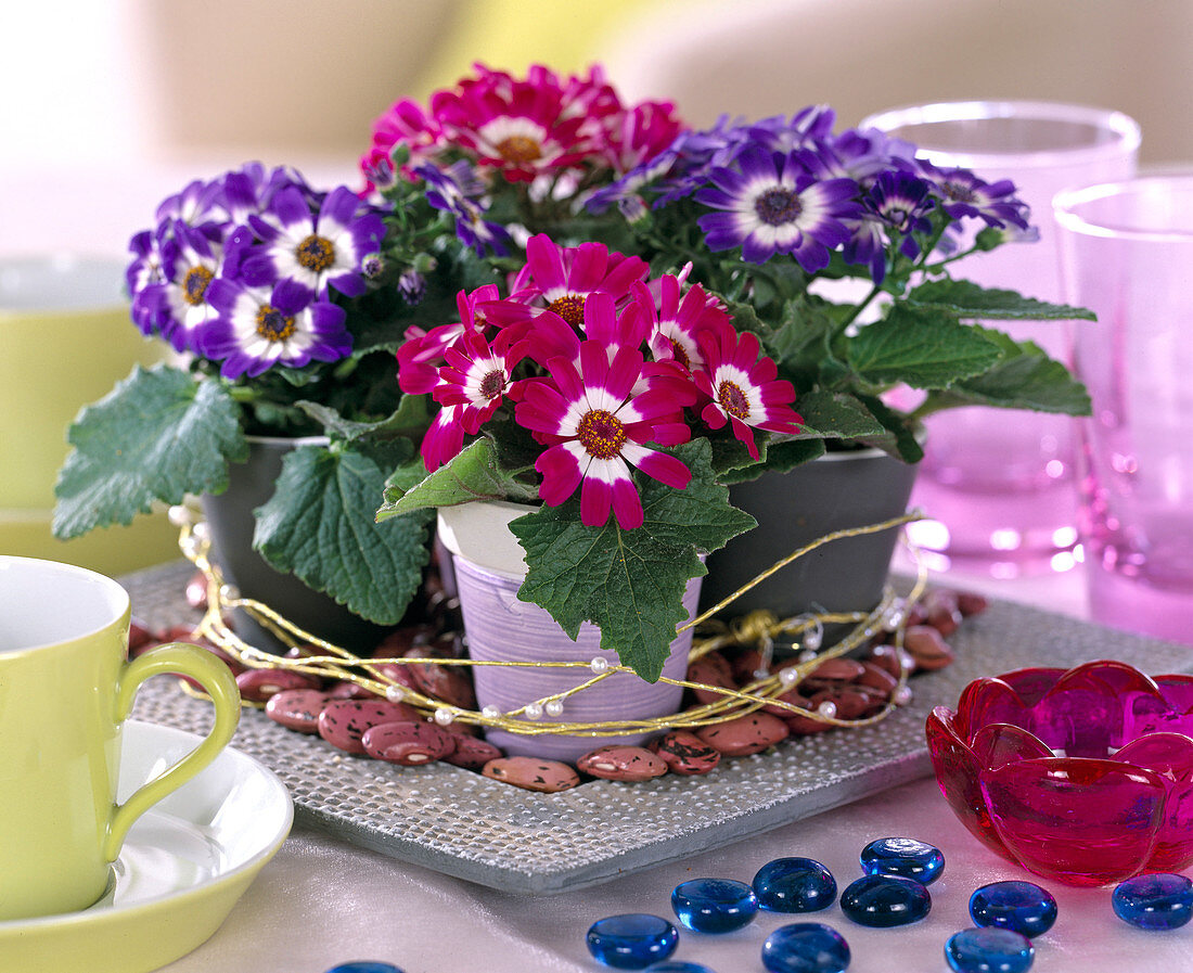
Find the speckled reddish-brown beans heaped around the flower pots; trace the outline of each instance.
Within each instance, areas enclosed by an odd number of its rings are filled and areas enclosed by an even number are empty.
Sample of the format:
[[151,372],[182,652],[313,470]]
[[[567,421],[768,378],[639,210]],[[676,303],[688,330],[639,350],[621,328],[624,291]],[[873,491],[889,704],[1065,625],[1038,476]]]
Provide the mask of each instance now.
[[[192,581],[188,601],[202,606],[205,589]],[[432,598],[433,610],[424,621],[404,626],[385,636],[372,658],[459,658],[465,652],[456,615],[444,598]],[[892,635],[883,633],[859,652],[859,658],[834,658],[821,663],[778,698],[821,716],[859,720],[883,709],[897,691],[901,666],[911,672],[931,671],[953,659],[947,639],[962,620],[983,611],[985,599],[948,589],[928,591],[909,610],[901,660]],[[824,720],[766,706],[744,716],[696,729],[673,729],[648,746],[610,744],[598,746],[575,766],[534,757],[507,757],[480,735],[472,725],[428,718],[404,703],[381,698],[350,681],[324,681],[316,676],[278,667],[246,667],[218,647],[197,638],[190,626],[152,632],[134,621],[130,651],[137,654],[162,641],[200,645],[227,663],[236,677],[241,696],[265,707],[266,715],[298,733],[317,734],[347,753],[418,766],[443,760],[478,771],[493,780],[530,790],[555,792],[576,787],[583,780],[645,781],[663,774],[707,774],[723,757],[759,753],[787,737],[821,733],[833,728]],[[289,658],[311,654],[297,647]],[[760,673],[778,672],[795,660],[790,657],[766,663],[754,648],[709,652],[688,667],[688,681],[707,686],[742,689]],[[465,710],[476,709],[471,676],[466,666],[398,665],[379,663],[379,673],[402,686]],[[903,697],[909,701],[907,688]],[[712,689],[688,690],[685,707],[722,700]],[[441,715],[441,714],[440,714]]]

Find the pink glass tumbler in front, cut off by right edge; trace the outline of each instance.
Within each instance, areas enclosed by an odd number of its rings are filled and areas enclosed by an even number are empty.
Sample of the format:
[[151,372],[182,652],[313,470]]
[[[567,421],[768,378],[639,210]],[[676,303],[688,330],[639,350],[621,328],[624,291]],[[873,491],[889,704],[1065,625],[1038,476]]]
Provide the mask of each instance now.
[[1193,645],[1193,170],[1061,193],[1090,616]]

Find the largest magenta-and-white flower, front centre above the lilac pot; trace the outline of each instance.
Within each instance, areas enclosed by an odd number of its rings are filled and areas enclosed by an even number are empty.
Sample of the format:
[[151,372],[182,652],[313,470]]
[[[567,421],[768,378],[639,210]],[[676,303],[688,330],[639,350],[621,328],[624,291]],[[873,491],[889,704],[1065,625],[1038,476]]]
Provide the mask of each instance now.
[[[606,307],[612,314],[611,302]],[[648,377],[650,368],[645,365]],[[682,462],[643,443],[685,442],[687,426],[669,420],[694,395],[685,401],[674,384],[655,388],[653,382],[635,393],[644,374],[642,352],[618,347],[611,361],[596,340],[581,343],[579,364],[556,358],[550,370],[551,380],[527,381],[515,409],[521,426],[552,443],[534,463],[543,475],[539,497],[558,506],[580,487],[583,524],[602,525],[612,509],[623,530],[642,526],[642,498],[630,466],[675,489],[687,486],[692,474]]]

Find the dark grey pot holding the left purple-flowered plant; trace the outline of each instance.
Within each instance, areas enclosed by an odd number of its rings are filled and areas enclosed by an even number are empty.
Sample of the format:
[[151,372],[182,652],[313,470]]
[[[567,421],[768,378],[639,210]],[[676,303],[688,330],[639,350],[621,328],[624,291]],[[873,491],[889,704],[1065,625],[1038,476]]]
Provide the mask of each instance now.
[[[282,460],[299,445],[323,444],[321,437],[303,439],[249,437],[248,460],[233,463],[228,489],[204,494],[203,513],[211,531],[211,549],[224,580],[246,598],[262,602],[299,628],[357,654],[370,654],[388,629],[348,611],[314,591],[292,574],[274,571],[253,550],[253,511],[273,495]],[[246,611],[233,612],[236,634],[267,652],[284,652],[285,645],[258,624]]]

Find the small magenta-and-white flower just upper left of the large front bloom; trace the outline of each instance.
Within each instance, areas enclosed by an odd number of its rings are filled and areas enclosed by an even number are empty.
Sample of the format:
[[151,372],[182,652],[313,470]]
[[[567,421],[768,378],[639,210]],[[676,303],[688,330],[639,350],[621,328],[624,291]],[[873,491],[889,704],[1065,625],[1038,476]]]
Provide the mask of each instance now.
[[524,356],[519,338],[525,328],[497,332],[493,346],[475,331],[464,332],[444,352],[447,364],[439,369],[434,398],[445,406],[459,406],[457,421],[475,436],[511,388],[511,375]]

